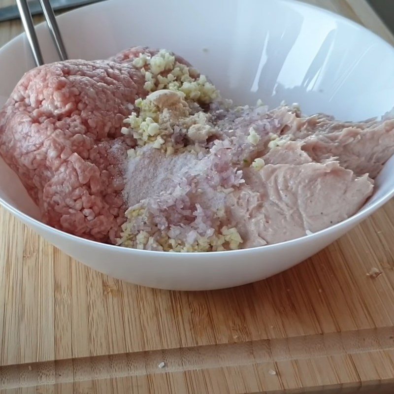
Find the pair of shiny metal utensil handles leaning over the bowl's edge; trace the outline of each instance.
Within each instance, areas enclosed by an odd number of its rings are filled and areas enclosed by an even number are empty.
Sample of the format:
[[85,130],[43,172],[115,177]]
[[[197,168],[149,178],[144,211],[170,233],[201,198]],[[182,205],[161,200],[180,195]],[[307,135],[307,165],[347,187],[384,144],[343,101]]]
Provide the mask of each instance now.
[[[44,64],[42,58],[42,53],[40,45],[37,39],[37,34],[35,33],[32,14],[29,9],[27,0],[16,0],[18,5],[19,13],[21,15],[21,20],[23,27],[25,28],[26,36],[28,38],[30,48],[32,49],[33,58],[36,66],[41,66]],[[55,43],[56,49],[58,51],[61,60],[67,60],[67,52],[64,46],[62,35],[60,34],[58,23],[56,22],[55,13],[53,12],[52,6],[49,0],[40,0],[41,8],[45,16],[46,23],[48,25],[49,32],[51,33],[53,42]]]

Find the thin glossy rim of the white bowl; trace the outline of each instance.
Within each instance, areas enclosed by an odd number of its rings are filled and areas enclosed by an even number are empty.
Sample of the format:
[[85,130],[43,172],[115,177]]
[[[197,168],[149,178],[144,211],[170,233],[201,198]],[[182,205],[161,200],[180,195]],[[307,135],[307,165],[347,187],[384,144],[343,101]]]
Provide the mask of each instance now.
[[[381,37],[380,35],[370,31],[369,29],[367,29],[365,26],[362,26],[361,24],[346,18],[342,15],[336,14],[333,11],[327,10],[325,8],[322,8],[318,5],[314,5],[314,4],[309,4],[309,3],[305,3],[301,0],[277,0],[279,2],[288,4],[288,5],[296,5],[296,6],[300,6],[300,7],[306,7],[306,8],[311,8],[313,9],[315,12],[318,13],[323,13],[323,14],[328,14],[329,16],[336,18],[336,19],[340,19],[342,22],[345,22],[349,25],[352,25],[353,27],[363,30],[369,34],[372,34],[377,40],[379,40],[382,44],[389,46],[390,49],[394,52],[394,47],[388,42],[386,41],[383,37]],[[81,10],[87,8],[87,7],[102,7],[103,4],[106,4],[107,1],[103,1],[103,2],[97,2],[97,3],[93,3],[93,4],[88,4],[88,5],[84,5],[82,7],[67,11],[59,16],[57,16],[58,20],[63,20],[66,18],[69,18],[70,15],[74,12],[81,12]],[[85,10],[86,11],[86,10]],[[38,24],[36,26],[36,28],[38,29],[43,29],[45,25],[45,22],[41,22],[40,24]],[[10,41],[8,41],[5,45],[3,45],[0,48],[0,53],[3,50],[8,49],[8,47],[11,47],[12,45],[14,45],[14,43],[16,41],[19,41],[22,39],[24,33],[18,34],[17,36],[15,36],[13,39],[11,39]],[[394,156],[394,155],[393,155]],[[164,251],[155,251],[155,250],[144,250],[144,249],[136,249],[136,248],[127,248],[124,246],[118,246],[118,245],[113,245],[113,244],[107,244],[107,243],[103,243],[103,242],[99,242],[99,241],[94,241],[91,239],[87,239],[87,238],[83,238],[74,234],[70,234],[66,231],[63,230],[59,230],[56,229],[52,226],[49,226],[37,219],[34,219],[33,217],[27,215],[26,213],[22,212],[21,210],[15,208],[14,206],[12,206],[11,204],[9,204],[8,202],[6,202],[4,199],[2,199],[0,197],[0,204],[7,209],[7,211],[9,211],[10,213],[12,213],[13,215],[15,215],[18,219],[21,219],[23,222],[25,222],[27,225],[32,225],[34,227],[38,227],[40,230],[46,231],[46,232],[52,232],[54,233],[54,235],[66,238],[67,240],[71,241],[71,242],[82,242],[85,243],[87,246],[91,246],[91,247],[99,247],[99,248],[103,248],[106,249],[108,251],[122,251],[124,253],[127,254],[135,254],[135,253],[141,253],[144,255],[153,255],[153,256],[158,256],[158,255],[163,255],[165,254],[165,256],[167,257],[172,257],[172,258],[176,258],[176,259],[184,259],[185,256],[195,256],[195,257],[203,257],[203,256],[222,256],[223,254],[229,254],[231,253],[232,255],[239,255],[239,254],[246,254],[246,253],[254,253],[254,252],[261,252],[262,250],[272,250],[272,249],[277,249],[277,248],[281,248],[281,247],[290,247],[293,244],[299,244],[302,241],[305,241],[307,238],[316,238],[319,235],[324,235],[324,234],[329,234],[334,232],[337,229],[340,229],[341,227],[345,227],[348,224],[352,224],[353,222],[359,223],[361,220],[365,219],[366,217],[368,217],[370,214],[372,214],[374,211],[376,211],[378,208],[380,208],[383,204],[385,204],[387,201],[389,201],[392,197],[394,197],[394,188],[392,190],[389,190],[388,192],[386,192],[382,197],[380,197],[377,201],[375,201],[373,204],[367,206],[367,207],[361,207],[361,209],[356,212],[354,215],[350,216],[349,218],[333,225],[333,226],[329,226],[323,230],[319,230],[316,232],[313,232],[312,234],[309,235],[304,235],[302,237],[298,237],[295,239],[291,239],[288,241],[284,241],[284,242],[279,242],[279,243],[275,243],[275,244],[268,244],[268,245],[263,245],[263,246],[258,246],[258,247],[254,247],[254,248],[245,248],[245,249],[236,249],[236,250],[225,250],[225,251],[212,251],[212,252],[164,252]],[[367,200],[368,201],[368,200]],[[366,203],[367,203],[366,201]]]

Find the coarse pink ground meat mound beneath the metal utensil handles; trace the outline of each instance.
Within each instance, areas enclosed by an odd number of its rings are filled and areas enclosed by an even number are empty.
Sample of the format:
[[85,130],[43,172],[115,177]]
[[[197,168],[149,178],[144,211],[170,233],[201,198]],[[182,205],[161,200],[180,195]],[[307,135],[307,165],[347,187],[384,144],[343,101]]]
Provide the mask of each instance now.
[[119,158],[133,145],[116,138],[143,84],[132,65],[110,61],[54,63],[21,79],[0,112],[0,153],[45,222],[114,241],[125,208]]

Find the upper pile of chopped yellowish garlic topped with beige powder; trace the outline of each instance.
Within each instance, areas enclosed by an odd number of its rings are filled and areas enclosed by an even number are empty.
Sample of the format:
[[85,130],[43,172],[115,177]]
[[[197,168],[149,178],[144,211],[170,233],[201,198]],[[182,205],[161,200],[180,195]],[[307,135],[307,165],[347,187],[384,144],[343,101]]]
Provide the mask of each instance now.
[[[195,144],[205,142],[214,133],[208,114],[201,110],[190,115],[196,105],[191,102],[210,103],[219,97],[215,86],[204,75],[177,62],[175,56],[164,49],[153,56],[141,53],[132,65],[140,69],[145,78],[144,89],[151,92],[146,99],[135,100],[137,110],[125,120],[129,127],[121,129],[122,134],[132,135],[137,140],[137,147],[152,143],[154,148],[172,154],[176,147],[171,144],[170,137],[175,126],[185,129],[187,137]],[[128,155],[135,157],[134,152]]]

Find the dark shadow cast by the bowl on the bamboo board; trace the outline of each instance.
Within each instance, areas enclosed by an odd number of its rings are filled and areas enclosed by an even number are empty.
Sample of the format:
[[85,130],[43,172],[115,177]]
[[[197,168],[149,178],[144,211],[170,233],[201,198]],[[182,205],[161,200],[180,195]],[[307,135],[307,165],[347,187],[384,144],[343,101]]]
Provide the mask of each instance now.
[[[355,256],[347,250],[354,231],[304,262],[262,281],[230,289],[171,293],[187,297],[194,327],[204,333],[212,330],[218,342],[250,341],[256,333],[264,339],[314,335],[327,332],[328,327],[341,331],[349,324],[346,319],[343,321],[343,315],[352,314],[360,296],[357,291],[349,292],[344,278],[351,275],[355,289],[360,291],[364,280],[375,280],[367,276],[357,279],[357,273],[349,266],[348,253],[363,264],[362,251]],[[215,319],[222,322],[220,327],[211,328],[216,323],[210,319],[211,310],[215,311]],[[362,326],[367,315],[361,311],[352,319]]]

